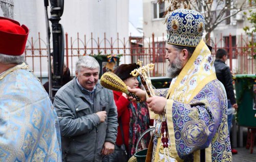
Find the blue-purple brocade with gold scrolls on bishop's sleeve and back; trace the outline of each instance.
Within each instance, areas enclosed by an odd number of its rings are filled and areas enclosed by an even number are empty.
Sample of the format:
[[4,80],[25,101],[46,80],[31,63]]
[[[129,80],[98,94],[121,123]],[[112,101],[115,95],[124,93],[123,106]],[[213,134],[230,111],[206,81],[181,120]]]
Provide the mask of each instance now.
[[218,80],[208,83],[189,104],[174,101],[176,148],[184,161],[193,161],[191,153],[206,148],[209,144],[211,144],[212,161],[232,159],[227,112],[221,110],[223,107],[226,110],[226,95]]

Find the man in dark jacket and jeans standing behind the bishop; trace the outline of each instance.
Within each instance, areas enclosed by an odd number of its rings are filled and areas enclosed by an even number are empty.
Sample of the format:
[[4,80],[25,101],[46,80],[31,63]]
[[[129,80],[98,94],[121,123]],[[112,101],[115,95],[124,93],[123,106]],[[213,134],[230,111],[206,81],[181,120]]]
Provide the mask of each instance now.
[[[228,116],[227,116],[227,124],[228,124],[228,131],[231,132],[232,127],[232,119],[233,119],[233,112],[230,111],[232,107],[234,109],[238,109],[238,104],[236,101],[236,97],[234,96],[234,87],[233,87],[233,79],[230,68],[225,64],[227,60],[227,51],[225,49],[218,49],[216,52],[216,60],[214,62],[216,76],[218,80],[224,85],[227,99],[228,99]],[[230,112],[230,113],[229,113]],[[232,154],[237,154],[238,151],[236,149],[231,149]]]

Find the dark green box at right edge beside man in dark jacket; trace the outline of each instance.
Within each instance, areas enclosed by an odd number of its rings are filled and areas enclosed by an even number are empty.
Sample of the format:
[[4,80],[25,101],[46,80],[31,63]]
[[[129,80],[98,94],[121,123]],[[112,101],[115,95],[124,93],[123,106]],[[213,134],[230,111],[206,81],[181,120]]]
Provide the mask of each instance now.
[[236,96],[238,103],[238,124],[245,127],[256,127],[256,75],[238,74],[235,76]]

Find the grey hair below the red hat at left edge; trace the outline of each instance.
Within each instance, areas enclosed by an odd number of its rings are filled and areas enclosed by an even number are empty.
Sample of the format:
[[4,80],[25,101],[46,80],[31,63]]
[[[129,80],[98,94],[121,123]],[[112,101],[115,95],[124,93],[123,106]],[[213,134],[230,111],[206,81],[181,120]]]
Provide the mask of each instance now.
[[19,64],[25,61],[25,55],[20,56],[11,56],[11,55],[5,55],[0,53],[0,63],[3,64]]

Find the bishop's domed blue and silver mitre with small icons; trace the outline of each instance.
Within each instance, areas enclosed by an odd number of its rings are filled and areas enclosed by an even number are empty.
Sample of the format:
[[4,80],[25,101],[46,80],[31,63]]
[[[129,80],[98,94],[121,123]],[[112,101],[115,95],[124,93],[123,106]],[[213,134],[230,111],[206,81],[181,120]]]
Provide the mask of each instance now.
[[196,47],[205,29],[204,17],[197,11],[177,9],[167,17],[167,43]]

